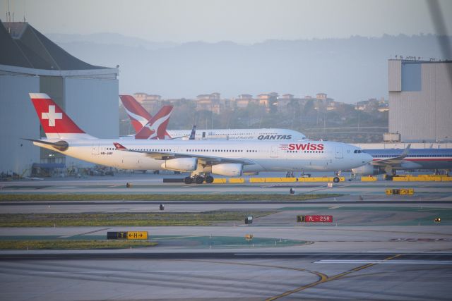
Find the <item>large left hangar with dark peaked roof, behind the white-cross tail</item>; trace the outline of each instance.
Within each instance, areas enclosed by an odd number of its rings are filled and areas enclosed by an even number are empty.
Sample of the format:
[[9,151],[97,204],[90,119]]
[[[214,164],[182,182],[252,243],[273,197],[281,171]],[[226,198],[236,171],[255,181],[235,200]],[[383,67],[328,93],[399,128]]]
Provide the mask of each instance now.
[[85,63],[24,22],[0,21],[0,45],[0,173],[87,166],[20,139],[45,136],[30,92],[49,94],[90,135],[119,136],[117,68]]

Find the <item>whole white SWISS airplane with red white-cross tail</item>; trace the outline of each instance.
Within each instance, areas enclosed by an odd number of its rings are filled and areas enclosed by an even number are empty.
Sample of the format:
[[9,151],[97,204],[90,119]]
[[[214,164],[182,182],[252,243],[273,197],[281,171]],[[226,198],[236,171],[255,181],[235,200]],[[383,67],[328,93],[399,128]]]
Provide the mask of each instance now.
[[184,178],[186,184],[213,183],[211,174],[340,171],[372,159],[359,147],[340,142],[97,139],[81,130],[47,94],[30,93],[30,98],[47,136],[27,139],[33,145],[115,168],[191,172]]

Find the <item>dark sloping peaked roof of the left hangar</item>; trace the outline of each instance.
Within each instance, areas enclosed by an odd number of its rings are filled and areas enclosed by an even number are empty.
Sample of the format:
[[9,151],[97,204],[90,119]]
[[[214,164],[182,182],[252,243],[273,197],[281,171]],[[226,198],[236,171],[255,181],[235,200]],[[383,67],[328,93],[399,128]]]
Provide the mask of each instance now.
[[71,56],[28,23],[0,20],[0,65],[44,70],[106,69]]

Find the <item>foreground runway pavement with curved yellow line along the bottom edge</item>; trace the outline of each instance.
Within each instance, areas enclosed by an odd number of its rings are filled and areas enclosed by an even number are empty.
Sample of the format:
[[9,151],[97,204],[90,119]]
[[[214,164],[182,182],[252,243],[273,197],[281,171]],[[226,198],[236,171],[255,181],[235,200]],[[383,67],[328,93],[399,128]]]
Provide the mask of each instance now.
[[450,254],[86,257],[2,260],[2,299],[448,300],[452,281]]

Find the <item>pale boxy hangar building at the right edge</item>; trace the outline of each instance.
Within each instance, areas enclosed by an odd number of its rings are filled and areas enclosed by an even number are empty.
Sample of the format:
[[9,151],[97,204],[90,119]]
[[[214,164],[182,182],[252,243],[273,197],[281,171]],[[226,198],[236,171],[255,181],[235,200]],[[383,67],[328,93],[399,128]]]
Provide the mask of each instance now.
[[389,132],[403,142],[452,142],[452,61],[388,65]]

